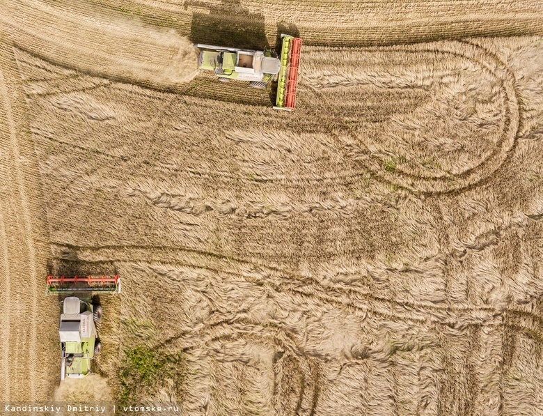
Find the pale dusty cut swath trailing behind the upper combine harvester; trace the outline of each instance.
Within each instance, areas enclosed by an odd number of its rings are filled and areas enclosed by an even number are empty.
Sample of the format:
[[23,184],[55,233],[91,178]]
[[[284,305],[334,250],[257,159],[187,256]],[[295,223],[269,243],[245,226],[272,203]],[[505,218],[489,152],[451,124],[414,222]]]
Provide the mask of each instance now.
[[173,88],[196,76],[196,50],[174,29],[79,12],[38,0],[8,1],[0,33],[31,54],[108,79]]

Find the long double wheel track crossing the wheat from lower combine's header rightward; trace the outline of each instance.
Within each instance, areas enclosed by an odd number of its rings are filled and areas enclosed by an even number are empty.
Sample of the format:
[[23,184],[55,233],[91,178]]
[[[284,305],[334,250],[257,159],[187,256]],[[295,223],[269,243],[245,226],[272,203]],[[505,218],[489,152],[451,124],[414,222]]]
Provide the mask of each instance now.
[[[251,268],[258,268],[259,270],[244,270],[235,271],[230,268],[225,268],[224,265],[217,265],[212,268],[209,266],[198,266],[194,263],[187,263],[183,261],[173,261],[171,263],[175,265],[184,265],[189,268],[203,269],[217,273],[228,273],[235,277],[241,277],[247,282],[255,283],[258,285],[266,284],[274,291],[288,292],[295,295],[300,295],[303,298],[309,300],[320,300],[329,305],[336,305],[341,308],[352,307],[366,314],[375,314],[384,319],[398,318],[402,321],[417,321],[420,323],[432,322],[439,325],[453,325],[455,328],[464,328],[472,325],[497,325],[507,326],[511,328],[524,328],[524,332],[534,332],[536,339],[543,341],[543,320],[540,316],[530,314],[523,311],[517,311],[514,309],[498,310],[494,307],[441,307],[438,305],[427,304],[411,304],[409,302],[402,302],[399,300],[393,300],[389,298],[381,298],[379,296],[372,295],[365,291],[358,291],[352,288],[343,288],[338,285],[326,285],[323,286],[313,277],[305,277],[297,275],[295,272],[289,270],[281,270],[278,268],[272,268],[258,263],[252,263],[251,261],[244,261],[240,259],[233,259],[230,256],[221,256],[221,254],[214,254],[210,252],[200,252],[196,249],[190,249],[188,247],[141,247],[141,246],[107,246],[107,247],[83,247],[74,245],[65,245],[61,243],[53,243],[57,249],[69,249],[70,255],[64,256],[61,259],[74,258],[79,261],[114,261],[124,263],[141,263],[141,251],[148,252],[150,258],[156,257],[156,250],[168,250],[173,252],[188,252],[190,254],[200,254],[208,256],[212,259],[228,261],[229,263],[238,263],[249,265]],[[140,254],[134,253],[134,256],[128,254],[127,256],[119,255],[116,253],[115,258],[111,258],[111,254],[104,253],[108,249],[117,251],[119,249],[128,249],[139,251]],[[97,260],[86,260],[85,255],[81,253],[85,252],[95,254]],[[78,255],[79,253],[79,255]],[[100,260],[98,260],[100,259]],[[143,261],[147,263],[148,261]],[[168,262],[159,261],[157,263]],[[152,265],[152,263],[150,263]],[[272,274],[280,274],[274,279]],[[279,283],[278,283],[279,282]],[[522,325],[510,325],[505,321],[504,316],[524,316],[530,319],[530,323]],[[528,326],[527,326],[528,325]],[[535,328],[535,329],[534,329]]]

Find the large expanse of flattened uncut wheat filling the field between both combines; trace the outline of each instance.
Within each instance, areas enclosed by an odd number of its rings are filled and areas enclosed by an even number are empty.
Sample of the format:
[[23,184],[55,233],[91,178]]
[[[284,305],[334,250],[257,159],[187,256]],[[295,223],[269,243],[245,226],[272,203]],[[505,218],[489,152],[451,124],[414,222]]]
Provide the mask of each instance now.
[[186,414],[540,410],[539,38],[304,47],[295,117],[205,77],[175,95],[4,53],[47,195],[31,199],[40,238],[54,263],[123,276],[98,362],[117,394],[139,345],[168,371],[135,399]]

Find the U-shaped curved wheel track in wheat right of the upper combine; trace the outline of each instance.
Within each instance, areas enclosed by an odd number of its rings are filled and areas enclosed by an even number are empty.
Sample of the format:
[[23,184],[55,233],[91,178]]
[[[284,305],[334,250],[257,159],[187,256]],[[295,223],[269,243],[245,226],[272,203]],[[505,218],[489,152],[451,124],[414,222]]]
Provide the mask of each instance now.
[[[395,50],[397,47],[391,47],[391,50]],[[376,152],[372,152],[366,147],[363,142],[363,130],[361,134],[350,134],[352,139],[351,143],[347,143],[348,157],[354,158],[359,162],[362,162],[366,169],[370,169],[375,176],[382,180],[403,187],[412,192],[422,192],[424,194],[443,194],[448,192],[457,192],[459,190],[466,189],[473,185],[477,185],[485,178],[488,178],[503,164],[507,155],[514,147],[517,141],[517,134],[519,131],[519,121],[521,118],[519,109],[518,93],[515,88],[515,79],[512,72],[505,66],[505,64],[498,59],[498,57],[489,52],[487,49],[473,45],[467,42],[448,42],[448,43],[430,43],[421,44],[413,47],[403,47],[404,51],[411,53],[430,52],[436,54],[443,54],[452,56],[453,59],[457,57],[466,58],[473,61],[480,66],[482,71],[485,71],[494,78],[494,85],[499,89],[501,93],[502,108],[500,109],[501,117],[503,119],[503,125],[501,126],[501,132],[498,133],[498,140],[494,144],[494,148],[491,151],[487,151],[480,160],[471,162],[468,166],[463,167],[462,170],[454,173],[441,171],[440,174],[432,174],[431,171],[423,172],[420,166],[416,166],[412,162],[409,163],[409,155],[403,157],[401,153],[395,151],[395,149],[384,149],[380,155]],[[381,49],[382,50],[382,49]],[[431,73],[431,72],[430,72]],[[322,88],[326,88],[326,78],[331,78],[335,74],[326,73],[322,77],[310,77],[306,82],[309,84],[316,84],[317,91]],[[356,81],[349,82],[348,77],[342,77],[341,74],[337,75],[340,80],[333,82],[329,88],[337,86],[348,88],[350,85],[355,84]],[[423,74],[424,76],[424,74]],[[343,79],[345,78],[345,79]],[[324,84],[322,84],[324,82]],[[370,80],[361,80],[362,84],[368,84]],[[386,83],[383,88],[404,88],[404,86],[394,85],[394,82]],[[431,116],[427,114],[427,116]],[[378,146],[375,144],[374,146]],[[399,160],[405,160],[407,163],[394,162],[393,169],[383,169],[386,167],[387,160],[397,158]],[[362,172],[361,172],[362,173]]]

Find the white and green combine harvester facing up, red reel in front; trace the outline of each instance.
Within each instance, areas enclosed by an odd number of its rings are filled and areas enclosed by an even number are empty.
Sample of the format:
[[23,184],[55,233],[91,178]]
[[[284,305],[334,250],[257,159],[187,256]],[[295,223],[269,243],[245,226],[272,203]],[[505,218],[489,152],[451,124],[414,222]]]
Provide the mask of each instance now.
[[63,313],[58,325],[61,339],[61,381],[91,373],[91,360],[100,353],[96,323],[102,319],[102,307],[93,305],[93,293],[120,293],[120,278],[47,276],[47,294],[68,295],[61,303]]

